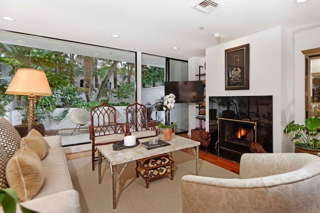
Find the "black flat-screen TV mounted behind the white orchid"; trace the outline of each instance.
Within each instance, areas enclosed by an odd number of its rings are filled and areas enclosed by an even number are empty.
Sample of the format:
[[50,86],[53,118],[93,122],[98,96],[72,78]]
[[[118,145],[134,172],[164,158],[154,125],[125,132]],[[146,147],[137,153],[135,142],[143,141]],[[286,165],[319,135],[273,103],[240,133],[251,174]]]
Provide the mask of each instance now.
[[165,95],[173,93],[176,103],[203,102],[202,80],[166,81],[164,92]]

